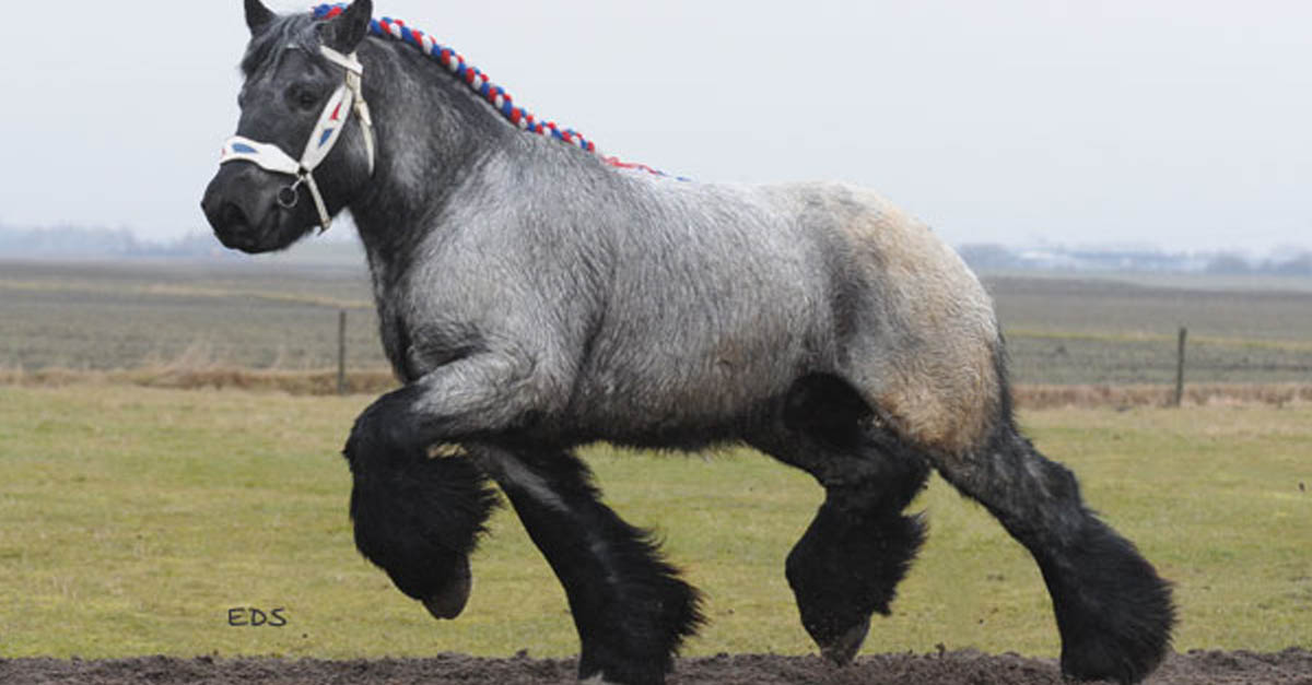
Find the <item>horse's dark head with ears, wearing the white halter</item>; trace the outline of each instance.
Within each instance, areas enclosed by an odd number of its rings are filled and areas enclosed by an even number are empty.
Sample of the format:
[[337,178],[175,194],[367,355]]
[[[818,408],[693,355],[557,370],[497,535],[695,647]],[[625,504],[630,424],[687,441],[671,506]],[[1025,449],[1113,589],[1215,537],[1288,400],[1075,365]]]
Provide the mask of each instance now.
[[270,252],[327,230],[369,181],[373,129],[354,52],[371,13],[356,0],[328,20],[279,17],[245,0],[241,117],[201,201],[226,247]]

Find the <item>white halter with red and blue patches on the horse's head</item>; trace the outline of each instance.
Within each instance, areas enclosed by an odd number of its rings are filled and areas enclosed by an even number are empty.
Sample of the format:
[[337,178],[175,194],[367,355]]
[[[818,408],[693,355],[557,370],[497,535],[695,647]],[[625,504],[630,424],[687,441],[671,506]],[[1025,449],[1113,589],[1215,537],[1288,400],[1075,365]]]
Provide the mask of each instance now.
[[273,143],[260,143],[241,135],[234,135],[223,143],[223,156],[219,157],[219,164],[251,161],[274,173],[295,176],[297,182],[278,192],[278,205],[286,209],[297,206],[297,189],[300,184],[306,184],[310,188],[310,197],[315,198],[315,209],[319,210],[320,232],[323,232],[332,224],[332,217],[328,215],[328,206],[324,203],[323,194],[319,193],[319,184],[315,182],[314,171],[328,156],[328,152],[332,152],[332,147],[337,144],[337,138],[341,136],[341,130],[346,126],[346,118],[354,110],[359,117],[359,123],[365,127],[365,147],[369,148],[369,175],[373,176],[374,122],[369,117],[369,105],[365,102],[365,92],[359,85],[365,67],[356,59],[356,54],[342,55],[324,46],[320,46],[319,51],[329,62],[340,64],[346,70],[346,80],[337,87],[337,91],[328,98],[328,104],[324,105],[323,113],[319,114],[319,122],[315,123],[315,130],[310,134],[310,140],[306,142],[306,150],[300,155],[300,161],[291,159],[291,155]]

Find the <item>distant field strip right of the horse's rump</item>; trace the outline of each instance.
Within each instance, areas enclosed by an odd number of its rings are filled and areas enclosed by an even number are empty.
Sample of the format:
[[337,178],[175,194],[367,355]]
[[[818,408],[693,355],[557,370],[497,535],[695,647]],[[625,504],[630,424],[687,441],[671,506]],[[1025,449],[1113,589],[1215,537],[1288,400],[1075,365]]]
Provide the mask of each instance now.
[[[985,278],[1023,383],[1170,383],[1189,328],[1193,382],[1312,381],[1312,293],[1114,280]],[[1278,282],[1288,287],[1288,281]],[[1231,289],[1220,289],[1231,287]]]

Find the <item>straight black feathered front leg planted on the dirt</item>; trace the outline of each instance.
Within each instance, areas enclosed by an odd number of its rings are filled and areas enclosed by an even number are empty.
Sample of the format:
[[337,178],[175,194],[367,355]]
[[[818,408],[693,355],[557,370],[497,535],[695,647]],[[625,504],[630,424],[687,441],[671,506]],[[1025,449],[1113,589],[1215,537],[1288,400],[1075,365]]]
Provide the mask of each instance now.
[[568,451],[476,445],[471,454],[564,585],[581,642],[579,678],[664,682],[680,643],[702,622],[701,598],[651,535],[601,503],[590,471]]

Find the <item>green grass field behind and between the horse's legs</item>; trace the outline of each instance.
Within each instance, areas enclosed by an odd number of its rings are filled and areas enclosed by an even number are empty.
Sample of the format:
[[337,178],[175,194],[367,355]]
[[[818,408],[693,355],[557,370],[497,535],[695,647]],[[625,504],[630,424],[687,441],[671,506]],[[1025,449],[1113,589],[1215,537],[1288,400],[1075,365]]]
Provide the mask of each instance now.
[[[455,622],[359,558],[337,453],[369,400],[0,386],[0,656],[576,654],[564,596],[509,510]],[[1023,423],[1177,583],[1177,648],[1312,646],[1312,408]],[[747,451],[586,454],[607,501],[706,591],[711,623],[687,654],[813,650],[782,572],[820,501],[808,476]],[[1027,554],[937,478],[914,507],[929,543],[866,650],[1055,655]],[[237,606],[290,622],[231,627]]]

